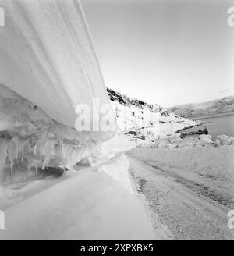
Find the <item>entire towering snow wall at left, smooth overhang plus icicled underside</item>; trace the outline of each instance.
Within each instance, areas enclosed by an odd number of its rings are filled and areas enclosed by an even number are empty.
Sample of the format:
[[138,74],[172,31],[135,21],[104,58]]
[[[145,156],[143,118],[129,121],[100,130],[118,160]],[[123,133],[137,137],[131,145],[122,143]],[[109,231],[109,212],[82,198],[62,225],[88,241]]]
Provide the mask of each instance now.
[[[98,162],[114,132],[74,129],[76,105],[109,104],[80,1],[0,0],[0,7],[1,180],[20,168]],[[115,119],[112,109],[108,115]]]

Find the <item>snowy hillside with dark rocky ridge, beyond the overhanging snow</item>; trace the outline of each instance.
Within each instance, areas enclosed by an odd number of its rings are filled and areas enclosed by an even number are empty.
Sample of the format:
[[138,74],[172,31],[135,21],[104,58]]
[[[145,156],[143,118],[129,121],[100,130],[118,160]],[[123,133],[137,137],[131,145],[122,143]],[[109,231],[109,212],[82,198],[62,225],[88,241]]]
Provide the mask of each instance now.
[[145,101],[130,98],[110,88],[107,90],[119,130],[137,130],[141,134],[155,138],[197,124],[193,120],[177,116],[157,104],[150,105]]

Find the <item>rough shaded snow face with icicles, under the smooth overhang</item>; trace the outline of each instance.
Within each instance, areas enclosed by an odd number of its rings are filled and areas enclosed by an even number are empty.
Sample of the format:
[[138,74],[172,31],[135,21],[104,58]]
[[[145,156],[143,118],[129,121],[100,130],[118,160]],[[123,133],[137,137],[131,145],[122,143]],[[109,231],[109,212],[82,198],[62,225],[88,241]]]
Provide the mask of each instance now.
[[[36,105],[0,85],[2,183],[20,181],[23,176],[35,176],[37,169],[71,169],[82,159],[94,165],[100,155],[102,160],[108,158],[108,152],[104,156],[103,151],[103,145],[93,140],[88,132],[79,133],[56,122]],[[26,169],[29,170],[27,173]],[[58,169],[58,172],[61,170]]]

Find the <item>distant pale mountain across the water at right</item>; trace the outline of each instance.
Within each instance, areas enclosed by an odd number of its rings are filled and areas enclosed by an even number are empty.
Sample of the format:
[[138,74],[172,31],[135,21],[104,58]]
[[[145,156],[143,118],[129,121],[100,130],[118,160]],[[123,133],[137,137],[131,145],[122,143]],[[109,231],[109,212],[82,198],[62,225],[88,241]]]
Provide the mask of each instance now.
[[228,113],[234,111],[234,96],[198,104],[178,105],[168,109],[176,115],[190,118]]

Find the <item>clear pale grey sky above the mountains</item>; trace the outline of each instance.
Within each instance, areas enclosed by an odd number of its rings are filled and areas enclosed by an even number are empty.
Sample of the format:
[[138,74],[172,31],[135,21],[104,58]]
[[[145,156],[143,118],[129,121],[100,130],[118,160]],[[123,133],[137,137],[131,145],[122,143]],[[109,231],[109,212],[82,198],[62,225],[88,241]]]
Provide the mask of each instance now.
[[81,0],[105,85],[165,108],[234,95],[233,0]]

